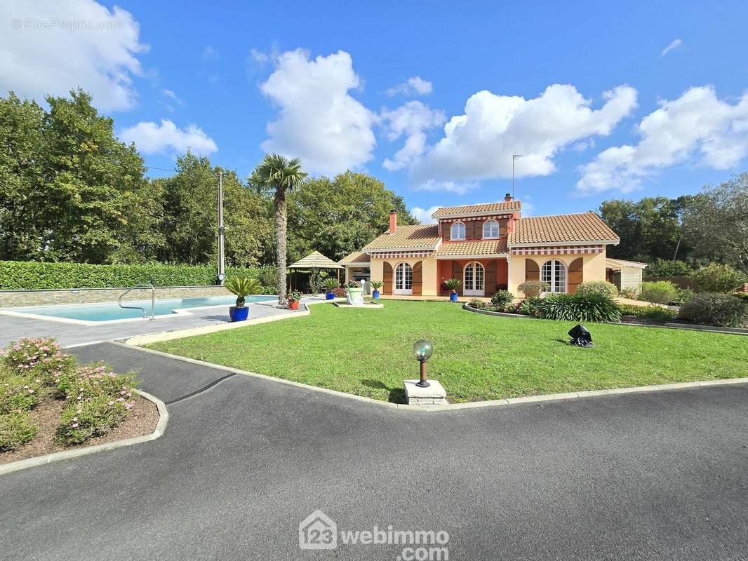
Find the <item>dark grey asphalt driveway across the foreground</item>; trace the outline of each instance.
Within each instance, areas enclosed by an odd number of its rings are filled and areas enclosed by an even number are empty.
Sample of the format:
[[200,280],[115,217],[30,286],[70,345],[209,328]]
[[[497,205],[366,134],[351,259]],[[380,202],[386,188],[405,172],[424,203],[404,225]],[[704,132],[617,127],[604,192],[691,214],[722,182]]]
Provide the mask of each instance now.
[[167,431],[1,476],[0,559],[402,554],[300,551],[316,509],[338,530],[446,531],[452,560],[747,557],[745,384],[423,414],[111,344],[75,350],[141,369],[172,402]]

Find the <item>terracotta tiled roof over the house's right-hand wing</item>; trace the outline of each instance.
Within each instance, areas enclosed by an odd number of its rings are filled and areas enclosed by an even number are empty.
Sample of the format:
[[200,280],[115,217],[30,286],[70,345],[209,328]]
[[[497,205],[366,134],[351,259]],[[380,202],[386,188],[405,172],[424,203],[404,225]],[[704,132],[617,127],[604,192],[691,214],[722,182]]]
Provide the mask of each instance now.
[[509,245],[617,239],[618,234],[594,212],[520,218],[509,233]]

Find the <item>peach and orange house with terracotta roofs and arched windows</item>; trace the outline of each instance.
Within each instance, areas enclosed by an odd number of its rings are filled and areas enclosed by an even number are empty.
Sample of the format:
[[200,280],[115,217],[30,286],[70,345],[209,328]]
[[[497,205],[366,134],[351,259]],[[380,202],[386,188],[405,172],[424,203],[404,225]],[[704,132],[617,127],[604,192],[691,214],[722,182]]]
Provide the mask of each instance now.
[[444,296],[444,281],[459,278],[464,296],[499,289],[520,295],[524,281],[545,281],[551,292],[576,291],[580,283],[605,281],[607,245],[619,237],[593,212],[521,217],[509,194],[498,203],[447,206],[436,224],[390,227],[361,251],[340,261],[346,280],[384,283],[385,295]]

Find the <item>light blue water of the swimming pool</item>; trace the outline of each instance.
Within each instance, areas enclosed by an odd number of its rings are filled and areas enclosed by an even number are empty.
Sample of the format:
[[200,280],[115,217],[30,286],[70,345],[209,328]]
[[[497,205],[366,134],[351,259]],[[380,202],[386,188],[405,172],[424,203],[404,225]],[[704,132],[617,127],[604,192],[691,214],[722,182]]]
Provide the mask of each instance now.
[[[254,302],[275,300],[275,296],[247,296],[247,304]],[[233,306],[236,296],[207,296],[205,298],[171,298],[156,300],[156,316],[174,313],[174,310],[190,307]],[[147,310],[150,316],[150,300],[123,301],[126,306],[140,306]],[[37,306],[13,308],[14,312],[34,313],[37,316],[52,316],[66,319],[82,319],[87,322],[105,322],[111,319],[132,319],[143,317],[141,310],[121,308],[117,302],[101,304],[74,304],[67,306]],[[224,310],[228,315],[228,309]]]

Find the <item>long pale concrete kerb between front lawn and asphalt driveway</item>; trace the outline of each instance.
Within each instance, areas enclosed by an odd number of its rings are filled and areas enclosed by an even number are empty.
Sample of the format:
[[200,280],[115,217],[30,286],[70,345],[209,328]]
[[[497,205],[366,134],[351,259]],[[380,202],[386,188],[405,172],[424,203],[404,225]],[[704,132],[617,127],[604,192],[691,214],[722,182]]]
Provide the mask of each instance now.
[[123,347],[135,347],[139,351],[149,352],[153,355],[159,355],[165,358],[171,358],[172,360],[186,362],[188,364],[197,364],[201,367],[215,368],[217,370],[223,370],[224,372],[245,375],[250,378],[260,378],[262,380],[273,381],[278,384],[285,384],[287,386],[300,387],[304,390],[312,390],[319,393],[327,393],[331,396],[344,397],[346,399],[354,399],[356,401],[363,401],[378,407],[384,407],[389,409],[399,409],[400,411],[416,411],[416,412],[436,412],[436,411],[458,411],[460,409],[477,409],[487,407],[500,407],[502,405],[518,405],[520,403],[536,403],[536,402],[552,402],[552,401],[563,401],[565,399],[582,399],[585,397],[604,397],[604,396],[616,396],[623,395],[626,393],[649,393],[667,390],[683,390],[696,387],[710,387],[719,386],[725,384],[748,384],[748,377],[745,378],[725,378],[721,380],[703,380],[703,381],[684,381],[675,382],[672,384],[654,384],[651,386],[634,386],[634,387],[616,387],[605,390],[583,390],[577,392],[567,393],[545,393],[539,396],[524,396],[524,397],[509,397],[506,399],[489,399],[487,401],[475,401],[475,402],[464,402],[464,403],[450,403],[447,405],[406,405],[404,403],[392,403],[387,401],[381,401],[380,399],[374,399],[373,397],[357,396],[355,393],[347,393],[339,390],[331,390],[327,387],[313,386],[310,384],[302,384],[299,381],[286,380],[285,378],[275,378],[267,374],[260,374],[256,372],[250,372],[249,370],[240,370],[239,368],[226,367],[222,364],[214,364],[206,361],[198,361],[194,358],[183,357],[180,355],[171,355],[168,352],[156,351],[154,349],[145,349],[141,346],[135,346],[129,343],[114,342],[114,345]]

